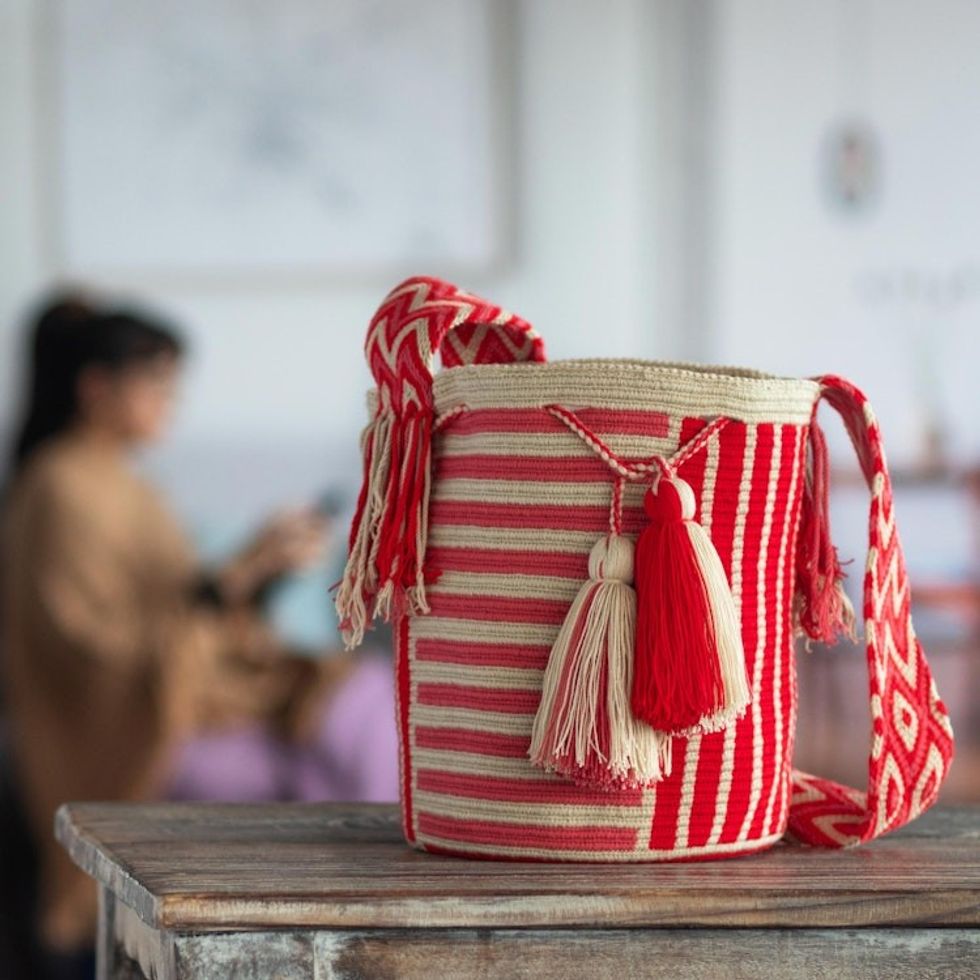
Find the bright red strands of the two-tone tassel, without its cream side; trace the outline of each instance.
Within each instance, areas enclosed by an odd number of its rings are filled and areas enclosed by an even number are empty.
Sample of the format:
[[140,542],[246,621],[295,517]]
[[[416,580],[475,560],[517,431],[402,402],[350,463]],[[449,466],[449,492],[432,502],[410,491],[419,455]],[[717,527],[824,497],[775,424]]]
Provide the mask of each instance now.
[[675,485],[648,490],[650,524],[636,543],[632,707],[662,732],[682,732],[724,703],[714,623]]

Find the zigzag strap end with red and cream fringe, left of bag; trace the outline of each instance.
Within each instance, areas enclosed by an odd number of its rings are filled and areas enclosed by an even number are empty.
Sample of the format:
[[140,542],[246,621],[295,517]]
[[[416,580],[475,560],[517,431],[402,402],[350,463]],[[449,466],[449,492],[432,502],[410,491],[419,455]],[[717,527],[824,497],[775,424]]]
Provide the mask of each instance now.
[[450,283],[417,276],[385,297],[364,343],[378,402],[361,437],[364,477],[337,593],[349,648],[370,618],[429,608],[425,584],[434,573],[423,559],[436,351],[445,367],[545,359],[529,323]]

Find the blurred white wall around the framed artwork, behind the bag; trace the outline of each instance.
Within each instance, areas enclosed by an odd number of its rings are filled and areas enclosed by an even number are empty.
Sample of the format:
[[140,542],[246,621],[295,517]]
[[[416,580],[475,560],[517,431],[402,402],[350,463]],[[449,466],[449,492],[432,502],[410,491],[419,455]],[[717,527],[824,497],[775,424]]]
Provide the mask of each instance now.
[[[918,452],[929,412],[975,458],[980,5],[499,6],[513,38],[514,234],[503,267],[467,286],[535,322],[552,357],[836,371],[871,394],[894,461]],[[12,405],[16,318],[56,271],[40,242],[36,9],[0,0],[0,424]],[[849,101],[841,50],[860,47],[848,34],[855,12],[871,40]],[[876,210],[848,219],[825,204],[819,148],[852,111],[880,135],[884,185]],[[871,303],[862,285],[879,273],[956,269],[974,276],[973,292],[938,317],[920,302]],[[415,271],[442,270],[404,270]],[[356,479],[368,383],[360,344],[392,281],[142,290],[194,348],[182,418],[157,459],[186,511],[234,500],[251,514],[337,473]]]

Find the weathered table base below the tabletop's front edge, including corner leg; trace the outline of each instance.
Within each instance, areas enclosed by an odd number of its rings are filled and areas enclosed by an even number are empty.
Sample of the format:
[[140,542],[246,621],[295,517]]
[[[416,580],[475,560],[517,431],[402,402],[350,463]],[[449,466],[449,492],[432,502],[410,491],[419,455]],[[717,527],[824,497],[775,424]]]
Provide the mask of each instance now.
[[[166,963],[128,954],[113,980],[834,980],[975,978],[974,929],[354,930],[178,934]],[[142,965],[142,969],[140,964]]]

